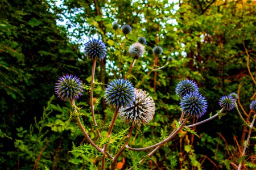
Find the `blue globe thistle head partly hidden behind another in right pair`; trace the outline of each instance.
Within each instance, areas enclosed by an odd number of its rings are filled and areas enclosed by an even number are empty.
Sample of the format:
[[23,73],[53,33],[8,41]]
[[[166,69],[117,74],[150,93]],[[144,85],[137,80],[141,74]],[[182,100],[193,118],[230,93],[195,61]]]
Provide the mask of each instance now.
[[176,88],[175,92],[179,97],[183,97],[184,95],[190,94],[192,92],[198,92],[199,88],[193,80],[181,80]]

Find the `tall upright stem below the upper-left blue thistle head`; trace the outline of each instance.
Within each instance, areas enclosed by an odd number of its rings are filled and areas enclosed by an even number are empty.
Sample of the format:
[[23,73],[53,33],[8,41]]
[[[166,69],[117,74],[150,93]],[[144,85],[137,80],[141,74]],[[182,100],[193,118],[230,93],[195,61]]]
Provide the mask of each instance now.
[[[96,58],[93,59],[93,66],[92,66],[92,80],[90,81],[90,111],[92,112],[93,124],[97,126],[97,122],[94,116],[94,104],[93,104],[93,87],[94,87],[94,75],[96,69]],[[100,131],[97,130],[98,138],[101,138]]]

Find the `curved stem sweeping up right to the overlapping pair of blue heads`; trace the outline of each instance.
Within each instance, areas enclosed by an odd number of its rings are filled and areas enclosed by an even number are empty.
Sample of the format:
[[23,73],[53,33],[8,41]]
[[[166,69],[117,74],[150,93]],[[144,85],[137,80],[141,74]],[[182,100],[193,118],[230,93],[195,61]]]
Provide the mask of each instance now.
[[126,148],[128,148],[131,151],[145,151],[145,150],[148,150],[148,149],[151,149],[151,148],[154,148],[154,147],[158,147],[160,145],[164,145],[165,143],[169,142],[172,138],[175,137],[175,135],[184,127],[184,125],[187,122],[187,120],[188,120],[188,117],[185,118],[183,123],[179,126],[179,128],[177,128],[175,130],[174,133],[171,133],[166,139],[164,139],[163,141],[161,141],[159,143],[156,143],[155,145],[151,145],[151,146],[143,147],[143,148],[133,148],[133,147],[129,147],[128,145],[126,145]]

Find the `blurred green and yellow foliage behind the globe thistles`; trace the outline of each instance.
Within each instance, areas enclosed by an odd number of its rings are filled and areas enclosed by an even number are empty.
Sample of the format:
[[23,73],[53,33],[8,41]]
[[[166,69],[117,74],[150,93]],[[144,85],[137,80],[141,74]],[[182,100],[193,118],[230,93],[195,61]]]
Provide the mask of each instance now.
[[[53,96],[56,79],[63,74],[75,74],[89,85],[92,60],[84,57],[82,48],[92,37],[108,46],[107,57],[97,61],[96,68],[96,82],[105,84],[128,71],[133,61],[129,46],[139,37],[147,40],[146,53],[137,60],[128,79],[150,93],[156,112],[149,125],[134,131],[134,147],[154,144],[165,128],[167,133],[173,129],[173,121],[181,113],[175,87],[182,79],[195,80],[209,104],[208,113],[199,120],[189,120],[191,124],[220,110],[218,100],[230,92],[239,92],[248,115],[250,101],[255,100],[255,82],[248,70],[255,79],[255,7],[255,1],[245,0],[0,1],[1,167],[100,168],[97,152],[69,152],[87,142],[74,121],[68,124],[70,104]],[[118,68],[124,35],[121,29],[112,29],[113,22],[132,28],[126,39],[121,75]],[[163,48],[158,66],[167,65],[158,70],[154,90],[152,49],[156,45]],[[96,110],[100,125],[109,124],[113,115],[101,99],[104,88],[98,85],[94,90],[100,103]],[[96,138],[89,91],[77,105],[88,112],[84,124],[89,135]],[[114,133],[128,127],[118,120]],[[200,138],[181,131],[142,165],[137,162],[146,152],[125,151],[117,168],[236,168],[247,133],[236,111],[194,130]],[[106,131],[103,129],[102,134]],[[254,140],[243,158],[247,169],[256,166]],[[111,152],[116,149],[113,146]],[[109,162],[106,165],[108,168]]]

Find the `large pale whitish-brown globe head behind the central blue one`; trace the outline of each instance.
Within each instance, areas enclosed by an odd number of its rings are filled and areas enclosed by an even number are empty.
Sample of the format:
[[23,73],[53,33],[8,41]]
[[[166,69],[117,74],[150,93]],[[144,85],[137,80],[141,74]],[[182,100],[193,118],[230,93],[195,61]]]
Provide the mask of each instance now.
[[126,123],[134,123],[138,126],[148,124],[155,114],[155,103],[152,97],[141,89],[134,89],[135,100],[129,107],[119,110],[119,117]]

